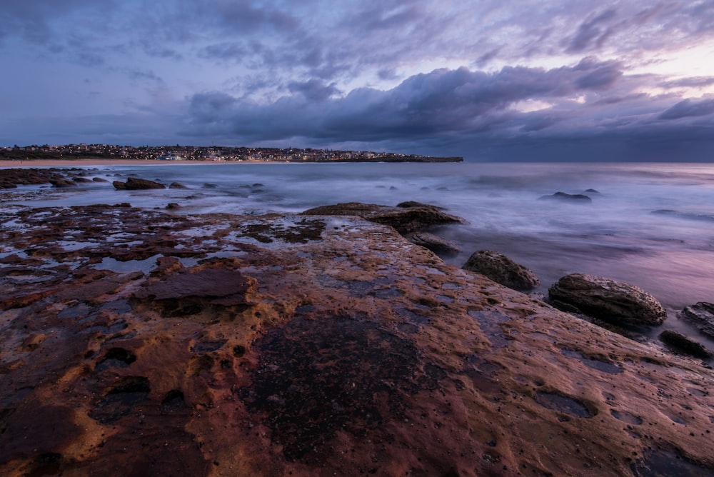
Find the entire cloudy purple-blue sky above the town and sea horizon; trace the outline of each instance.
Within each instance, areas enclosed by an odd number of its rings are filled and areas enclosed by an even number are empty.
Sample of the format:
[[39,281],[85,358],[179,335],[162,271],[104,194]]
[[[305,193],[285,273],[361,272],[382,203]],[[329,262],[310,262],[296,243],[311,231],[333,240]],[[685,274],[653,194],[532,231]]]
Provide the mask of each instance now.
[[714,161],[712,0],[0,0],[0,146]]

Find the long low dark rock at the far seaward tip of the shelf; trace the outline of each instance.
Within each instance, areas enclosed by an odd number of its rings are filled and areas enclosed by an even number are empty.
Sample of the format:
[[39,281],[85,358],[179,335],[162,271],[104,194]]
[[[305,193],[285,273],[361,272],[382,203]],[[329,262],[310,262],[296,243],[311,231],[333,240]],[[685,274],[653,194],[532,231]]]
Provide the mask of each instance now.
[[400,234],[421,231],[430,226],[444,224],[463,224],[461,217],[442,212],[435,206],[389,207],[377,204],[348,202],[308,209],[302,215],[342,215],[360,216],[377,224],[392,226]]

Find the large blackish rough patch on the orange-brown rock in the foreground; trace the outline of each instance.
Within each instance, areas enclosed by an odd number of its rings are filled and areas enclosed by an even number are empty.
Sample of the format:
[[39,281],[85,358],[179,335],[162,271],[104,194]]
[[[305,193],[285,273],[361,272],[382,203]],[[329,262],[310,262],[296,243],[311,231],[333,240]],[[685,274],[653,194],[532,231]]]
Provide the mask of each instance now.
[[406,395],[444,375],[431,365],[431,376],[423,375],[411,342],[351,318],[293,318],[254,348],[253,385],[236,393],[263,416],[290,461],[318,451],[338,430],[375,436],[378,426],[403,416]]

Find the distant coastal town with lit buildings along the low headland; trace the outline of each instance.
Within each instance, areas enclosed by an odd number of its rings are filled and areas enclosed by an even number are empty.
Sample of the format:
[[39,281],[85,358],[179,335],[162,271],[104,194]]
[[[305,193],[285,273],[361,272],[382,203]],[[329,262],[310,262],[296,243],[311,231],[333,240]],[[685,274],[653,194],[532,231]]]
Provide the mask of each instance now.
[[461,162],[462,157],[433,157],[393,152],[338,151],[226,146],[115,146],[66,144],[64,146],[13,146],[0,148],[0,161],[32,159],[136,159],[161,161],[258,162]]

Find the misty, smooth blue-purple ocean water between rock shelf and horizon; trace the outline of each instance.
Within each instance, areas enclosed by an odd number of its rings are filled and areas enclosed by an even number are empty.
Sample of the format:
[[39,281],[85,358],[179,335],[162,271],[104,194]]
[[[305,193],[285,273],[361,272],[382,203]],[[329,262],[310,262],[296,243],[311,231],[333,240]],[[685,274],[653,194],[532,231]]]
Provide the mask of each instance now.
[[[689,335],[676,313],[698,301],[714,302],[714,165],[171,163],[88,169],[109,181],[134,174],[188,189],[22,186],[0,191],[0,206],[129,202],[164,208],[175,202],[179,214],[263,214],[350,201],[419,201],[468,221],[433,231],[461,246],[461,253],[445,258],[455,266],[487,248],[531,268],[542,293],[568,273],[633,283],[668,309],[663,329]],[[592,201],[538,200],[558,191]],[[698,339],[714,348],[714,341]]]

